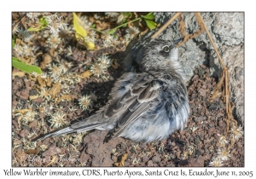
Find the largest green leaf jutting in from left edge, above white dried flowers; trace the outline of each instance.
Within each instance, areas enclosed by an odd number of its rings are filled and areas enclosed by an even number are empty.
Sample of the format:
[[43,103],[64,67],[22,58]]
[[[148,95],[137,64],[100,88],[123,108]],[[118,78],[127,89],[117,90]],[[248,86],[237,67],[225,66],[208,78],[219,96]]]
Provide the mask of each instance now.
[[39,68],[38,66],[27,65],[26,63],[20,61],[15,57],[12,58],[12,65],[23,72],[38,72],[38,74],[42,73],[41,68]]

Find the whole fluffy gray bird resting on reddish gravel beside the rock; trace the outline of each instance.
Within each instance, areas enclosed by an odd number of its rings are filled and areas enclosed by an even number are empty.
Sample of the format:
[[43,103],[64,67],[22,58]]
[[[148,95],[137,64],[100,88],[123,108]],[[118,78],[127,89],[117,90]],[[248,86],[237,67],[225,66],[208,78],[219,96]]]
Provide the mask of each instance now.
[[148,142],[183,130],[189,117],[189,102],[185,76],[177,61],[178,42],[151,41],[143,52],[143,72],[123,74],[105,107],[83,121],[38,139],[96,129],[108,130],[107,141],[122,136]]

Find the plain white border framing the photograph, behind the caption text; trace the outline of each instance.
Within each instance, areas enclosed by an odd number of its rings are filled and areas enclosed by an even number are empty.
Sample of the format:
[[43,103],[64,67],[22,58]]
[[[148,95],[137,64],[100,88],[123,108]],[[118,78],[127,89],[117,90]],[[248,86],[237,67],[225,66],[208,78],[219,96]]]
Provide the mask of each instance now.
[[[250,3],[251,2],[251,3]],[[207,168],[207,170],[224,170],[231,171],[253,171],[253,178],[256,176],[255,170],[255,91],[256,91],[256,58],[255,58],[255,4],[253,1],[227,1],[227,0],[214,0],[214,1],[193,1],[193,0],[169,0],[169,1],[54,1],[54,0],[12,0],[1,1],[0,4],[0,36],[1,36],[1,55],[0,55],[0,176],[1,178],[15,178],[15,176],[4,176],[3,170],[11,169],[11,13],[13,11],[91,11],[91,12],[106,12],[106,11],[147,11],[147,12],[159,12],[159,11],[219,11],[219,12],[245,12],[245,167],[242,168]],[[255,125],[254,125],[255,124]],[[31,169],[36,168],[13,168],[14,170]],[[88,169],[88,168],[87,168]],[[97,169],[97,168],[93,168]],[[107,170],[122,170],[125,172],[128,170],[142,170],[145,173],[147,168],[100,168],[103,172]],[[205,171],[206,168],[148,168],[149,170],[161,170],[162,172],[168,170],[185,170],[187,174],[189,169]],[[79,170],[82,172],[84,168],[43,168],[43,170]],[[26,176],[27,177],[27,176]],[[33,178],[35,176],[32,176]],[[45,177],[45,176],[36,176]],[[46,176],[50,177],[50,176]],[[73,177],[73,176],[55,176],[55,178]],[[80,178],[90,178],[92,176],[80,176]],[[129,178],[128,176],[102,176],[97,178]],[[147,176],[143,176],[144,178]],[[151,176],[151,178],[156,176]],[[160,176],[165,178],[173,178],[175,176]],[[177,176],[181,178],[182,176]],[[177,178],[176,177],[176,178]],[[197,178],[199,176],[192,176]],[[206,176],[201,176],[205,178]],[[17,177],[16,177],[17,178]],[[30,177],[31,178],[31,177]],[[136,178],[131,176],[131,178]],[[188,176],[186,176],[188,178]],[[218,177],[218,178],[225,178]],[[241,178],[236,176],[234,178]],[[245,178],[245,177],[242,177]],[[247,176],[247,178],[249,178]]]

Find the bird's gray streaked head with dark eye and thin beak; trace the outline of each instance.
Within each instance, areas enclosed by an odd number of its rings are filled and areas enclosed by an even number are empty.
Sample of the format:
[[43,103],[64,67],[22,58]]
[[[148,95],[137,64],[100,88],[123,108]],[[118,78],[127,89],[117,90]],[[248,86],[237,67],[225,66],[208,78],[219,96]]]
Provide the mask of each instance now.
[[143,70],[147,72],[180,68],[177,62],[178,50],[176,46],[182,40],[182,38],[175,41],[154,39],[148,43],[143,53]]

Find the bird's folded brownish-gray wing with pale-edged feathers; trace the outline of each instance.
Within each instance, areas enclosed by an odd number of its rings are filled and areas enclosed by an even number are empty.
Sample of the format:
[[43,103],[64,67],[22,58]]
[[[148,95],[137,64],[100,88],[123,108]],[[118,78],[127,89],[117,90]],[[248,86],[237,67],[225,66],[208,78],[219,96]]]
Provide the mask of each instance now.
[[118,116],[116,126],[108,134],[108,139],[119,136],[133,121],[148,111],[158,97],[162,82],[154,74],[143,72],[138,74],[124,95],[113,99],[105,111],[105,118]]

